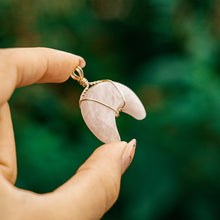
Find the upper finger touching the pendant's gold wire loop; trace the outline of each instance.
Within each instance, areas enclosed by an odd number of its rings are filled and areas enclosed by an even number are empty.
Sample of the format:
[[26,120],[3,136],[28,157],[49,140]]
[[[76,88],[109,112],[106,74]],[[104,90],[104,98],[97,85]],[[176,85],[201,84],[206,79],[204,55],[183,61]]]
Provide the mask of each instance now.
[[16,87],[33,83],[64,82],[83,58],[48,48],[0,50],[0,105],[11,97]]

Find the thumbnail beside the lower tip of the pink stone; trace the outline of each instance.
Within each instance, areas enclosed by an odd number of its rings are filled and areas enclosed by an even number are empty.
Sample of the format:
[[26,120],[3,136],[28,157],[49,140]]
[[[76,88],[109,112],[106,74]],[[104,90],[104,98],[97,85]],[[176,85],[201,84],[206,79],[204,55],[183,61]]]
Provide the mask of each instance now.
[[128,143],[128,145],[125,149],[125,152],[122,156],[122,166],[121,166],[122,167],[122,169],[121,169],[122,174],[130,166],[130,164],[134,158],[135,149],[136,149],[136,139],[133,139]]

